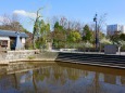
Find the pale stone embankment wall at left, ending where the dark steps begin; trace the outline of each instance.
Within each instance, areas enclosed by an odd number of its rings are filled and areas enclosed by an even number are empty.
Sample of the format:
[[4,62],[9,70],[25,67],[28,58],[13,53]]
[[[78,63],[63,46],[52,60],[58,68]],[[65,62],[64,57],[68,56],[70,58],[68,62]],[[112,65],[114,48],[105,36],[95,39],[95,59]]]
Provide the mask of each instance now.
[[13,62],[41,62],[55,61],[58,53],[40,52],[39,50],[8,51],[0,53],[0,65],[8,65]]

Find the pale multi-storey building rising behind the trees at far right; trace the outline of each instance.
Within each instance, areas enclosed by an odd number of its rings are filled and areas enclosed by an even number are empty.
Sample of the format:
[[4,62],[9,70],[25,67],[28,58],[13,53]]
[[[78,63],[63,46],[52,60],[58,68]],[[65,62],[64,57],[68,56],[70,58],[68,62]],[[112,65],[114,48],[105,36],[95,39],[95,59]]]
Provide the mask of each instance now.
[[108,25],[107,26],[107,35],[108,36],[113,36],[114,34],[125,34],[125,25]]

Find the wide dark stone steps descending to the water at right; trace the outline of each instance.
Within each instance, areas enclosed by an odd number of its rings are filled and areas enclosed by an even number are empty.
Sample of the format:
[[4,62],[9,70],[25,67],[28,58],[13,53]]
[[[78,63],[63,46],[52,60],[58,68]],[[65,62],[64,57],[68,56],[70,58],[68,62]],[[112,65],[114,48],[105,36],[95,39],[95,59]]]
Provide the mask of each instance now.
[[55,61],[125,68],[125,56],[124,55],[59,53]]

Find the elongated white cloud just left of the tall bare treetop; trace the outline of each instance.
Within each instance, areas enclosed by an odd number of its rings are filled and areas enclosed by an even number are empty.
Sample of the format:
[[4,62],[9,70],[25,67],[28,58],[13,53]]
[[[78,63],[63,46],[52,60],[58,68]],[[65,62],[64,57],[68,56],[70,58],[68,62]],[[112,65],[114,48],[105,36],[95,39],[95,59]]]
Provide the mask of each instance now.
[[26,12],[24,10],[15,10],[13,11],[14,14],[18,14],[18,15],[23,15],[23,16],[26,16],[26,17],[36,17],[36,13],[32,13],[32,12]]

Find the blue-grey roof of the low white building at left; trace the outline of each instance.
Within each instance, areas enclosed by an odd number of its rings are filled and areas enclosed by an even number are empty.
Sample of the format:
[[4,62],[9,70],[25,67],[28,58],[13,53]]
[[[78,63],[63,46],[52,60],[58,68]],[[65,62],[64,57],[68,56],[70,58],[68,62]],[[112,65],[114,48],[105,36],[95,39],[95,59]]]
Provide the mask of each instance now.
[[[28,36],[25,32],[20,32],[20,37],[27,38]],[[17,37],[17,31],[13,30],[1,30],[0,29],[0,36],[2,37]]]

